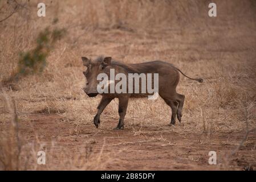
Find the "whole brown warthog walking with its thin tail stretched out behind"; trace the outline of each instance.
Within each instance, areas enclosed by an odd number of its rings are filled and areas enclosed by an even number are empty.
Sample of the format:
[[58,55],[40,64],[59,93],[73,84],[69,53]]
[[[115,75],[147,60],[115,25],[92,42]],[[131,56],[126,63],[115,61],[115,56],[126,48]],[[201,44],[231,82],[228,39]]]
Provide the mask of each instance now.
[[119,123],[115,129],[124,129],[124,117],[130,97],[148,97],[150,100],[160,96],[172,109],[170,124],[174,125],[176,117],[181,122],[182,107],[185,96],[176,92],[180,80],[179,72],[185,77],[202,82],[202,78],[190,78],[164,61],[124,64],[112,60],[112,57],[99,56],[95,60],[82,57],[86,76],[84,92],[89,97],[101,94],[94,125],[99,127],[100,114],[114,99],[119,99]]

